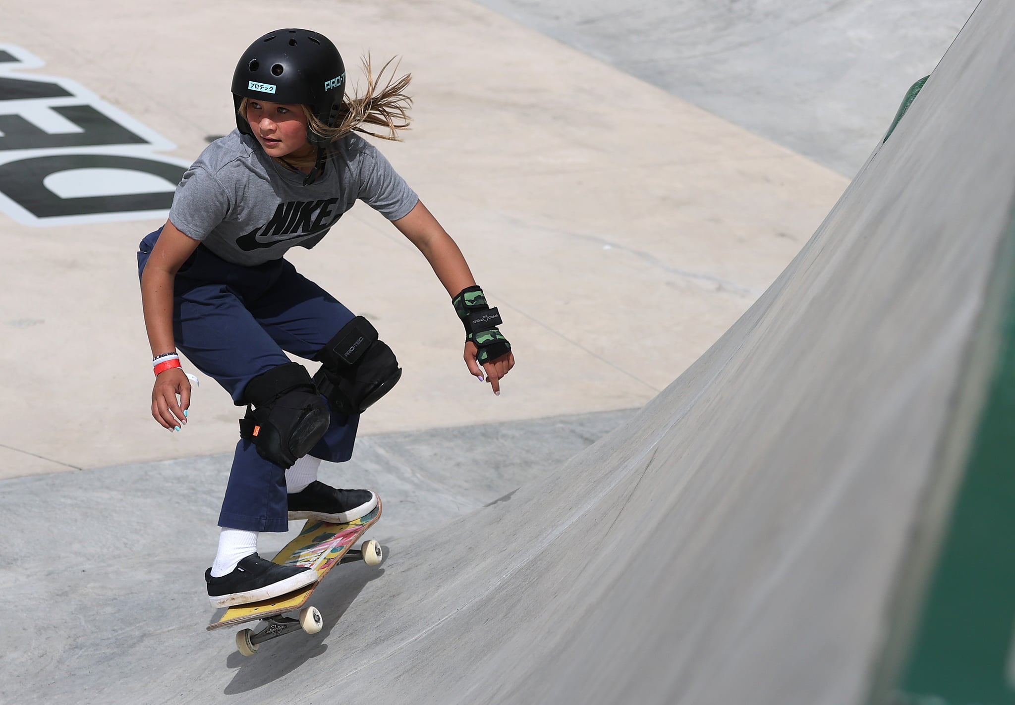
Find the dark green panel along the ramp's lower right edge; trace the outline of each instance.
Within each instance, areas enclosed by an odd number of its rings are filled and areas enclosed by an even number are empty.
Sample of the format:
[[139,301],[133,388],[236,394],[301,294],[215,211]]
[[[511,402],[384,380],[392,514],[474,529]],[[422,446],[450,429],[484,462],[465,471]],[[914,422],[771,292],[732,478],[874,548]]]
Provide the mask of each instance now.
[[[997,355],[897,702],[1015,704],[1015,231]],[[997,290],[994,292],[997,293]],[[994,319],[997,325],[997,319]],[[985,328],[992,323],[985,322]],[[984,330],[982,335],[995,331]]]

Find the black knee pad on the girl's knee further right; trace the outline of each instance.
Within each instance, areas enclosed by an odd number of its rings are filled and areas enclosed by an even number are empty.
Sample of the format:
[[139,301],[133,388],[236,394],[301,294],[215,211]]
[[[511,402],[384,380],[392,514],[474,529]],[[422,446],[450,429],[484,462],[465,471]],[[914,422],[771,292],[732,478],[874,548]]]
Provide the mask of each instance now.
[[315,359],[318,390],[342,414],[361,414],[391,392],[402,376],[395,353],[378,340],[370,322],[357,315],[328,341]]

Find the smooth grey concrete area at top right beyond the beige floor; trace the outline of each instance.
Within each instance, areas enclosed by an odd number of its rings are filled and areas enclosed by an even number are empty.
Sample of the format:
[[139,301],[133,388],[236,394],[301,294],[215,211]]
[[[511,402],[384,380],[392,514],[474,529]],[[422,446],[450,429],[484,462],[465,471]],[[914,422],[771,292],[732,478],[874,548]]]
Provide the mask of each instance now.
[[977,0],[478,2],[852,177]]

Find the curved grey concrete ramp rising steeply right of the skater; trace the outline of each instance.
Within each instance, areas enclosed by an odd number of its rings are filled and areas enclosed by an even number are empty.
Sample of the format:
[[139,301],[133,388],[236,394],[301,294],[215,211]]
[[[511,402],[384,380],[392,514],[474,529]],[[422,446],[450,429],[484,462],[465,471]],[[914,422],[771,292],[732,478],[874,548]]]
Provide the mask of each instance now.
[[[23,655],[3,700],[840,705],[890,687],[883,664],[901,657],[885,649],[919,596],[902,589],[929,570],[1011,286],[1015,101],[998,87],[1015,80],[1012,47],[1015,12],[985,0],[812,239],[695,364],[545,479],[392,540],[380,572],[336,571],[320,634],[244,660],[150,606],[88,621],[54,608],[62,627],[5,639]],[[73,526],[32,523],[41,481],[6,482],[0,506],[47,546]],[[141,591],[163,568],[115,569]],[[86,568],[55,565],[51,582],[72,570]],[[46,605],[90,589],[75,585]],[[66,648],[33,658],[58,627]]]

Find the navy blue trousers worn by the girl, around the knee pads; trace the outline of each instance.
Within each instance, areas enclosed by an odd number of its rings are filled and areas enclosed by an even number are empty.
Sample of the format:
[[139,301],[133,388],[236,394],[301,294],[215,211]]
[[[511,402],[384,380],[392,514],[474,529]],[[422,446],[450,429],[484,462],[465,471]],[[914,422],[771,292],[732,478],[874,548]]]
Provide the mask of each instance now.
[[[139,275],[160,232],[141,240]],[[247,382],[289,362],[283,350],[311,359],[353,319],[348,308],[285,260],[243,267],[203,244],[180,268],[173,294],[177,349],[225,387],[236,406],[246,406]],[[333,412],[327,433],[310,454],[332,463],[348,461],[358,424],[358,415]],[[287,511],[285,471],[242,438],[218,525],[285,532]]]

